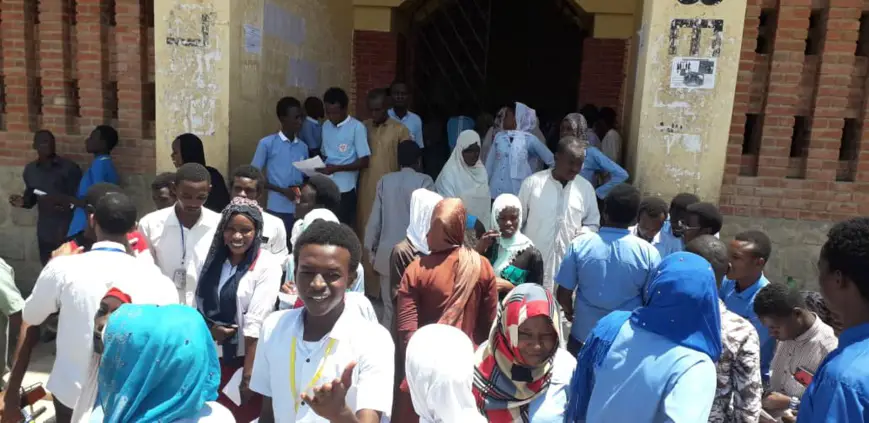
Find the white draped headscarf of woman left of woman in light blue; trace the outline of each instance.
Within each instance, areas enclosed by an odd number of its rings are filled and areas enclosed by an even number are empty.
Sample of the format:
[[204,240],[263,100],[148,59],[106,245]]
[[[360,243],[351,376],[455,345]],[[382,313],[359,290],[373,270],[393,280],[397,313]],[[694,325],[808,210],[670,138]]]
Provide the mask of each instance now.
[[461,199],[468,214],[476,216],[488,229],[491,226],[486,224],[486,216],[491,208],[491,195],[486,166],[479,159],[474,166],[468,166],[462,156],[462,152],[472,145],[480,145],[480,135],[476,131],[462,131],[456,148],[438,176],[435,189],[446,198]]

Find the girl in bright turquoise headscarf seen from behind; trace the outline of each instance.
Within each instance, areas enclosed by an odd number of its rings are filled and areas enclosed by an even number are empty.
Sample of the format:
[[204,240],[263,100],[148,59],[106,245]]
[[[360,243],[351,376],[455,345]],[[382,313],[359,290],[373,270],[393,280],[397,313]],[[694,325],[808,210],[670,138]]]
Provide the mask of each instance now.
[[92,422],[234,421],[214,402],[217,350],[196,309],[122,305],[109,317],[103,342],[101,409]]

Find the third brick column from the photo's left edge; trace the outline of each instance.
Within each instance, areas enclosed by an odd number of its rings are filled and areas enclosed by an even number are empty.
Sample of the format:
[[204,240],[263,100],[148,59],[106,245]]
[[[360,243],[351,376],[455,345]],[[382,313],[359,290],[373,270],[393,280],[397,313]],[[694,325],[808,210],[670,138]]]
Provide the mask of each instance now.
[[81,131],[109,120],[106,110],[106,81],[109,77],[108,28],[101,24],[103,0],[76,1],[76,69],[81,107]]

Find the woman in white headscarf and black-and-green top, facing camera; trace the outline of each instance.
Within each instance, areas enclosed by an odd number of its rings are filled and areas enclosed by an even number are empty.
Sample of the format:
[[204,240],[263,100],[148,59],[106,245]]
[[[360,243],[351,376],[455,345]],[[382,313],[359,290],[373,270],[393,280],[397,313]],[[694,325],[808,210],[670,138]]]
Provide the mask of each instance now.
[[501,296],[526,282],[543,284],[543,255],[521,231],[519,197],[501,194],[495,199],[490,227],[476,249],[492,263]]

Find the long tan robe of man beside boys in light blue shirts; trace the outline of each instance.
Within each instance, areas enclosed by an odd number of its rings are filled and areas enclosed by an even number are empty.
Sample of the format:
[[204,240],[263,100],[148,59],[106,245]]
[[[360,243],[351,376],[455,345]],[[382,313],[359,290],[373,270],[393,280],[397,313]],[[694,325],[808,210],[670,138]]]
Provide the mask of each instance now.
[[[368,129],[368,147],[371,149],[371,156],[368,168],[359,172],[359,197],[356,203],[356,228],[358,228],[359,239],[365,239],[365,226],[368,225],[368,217],[371,216],[371,208],[377,196],[377,182],[383,175],[399,170],[398,144],[410,139],[410,131],[407,127],[391,118],[380,125],[368,119],[365,121],[365,128]],[[367,253],[365,256],[362,260],[365,268],[365,295],[380,298],[380,276],[371,266]]]

